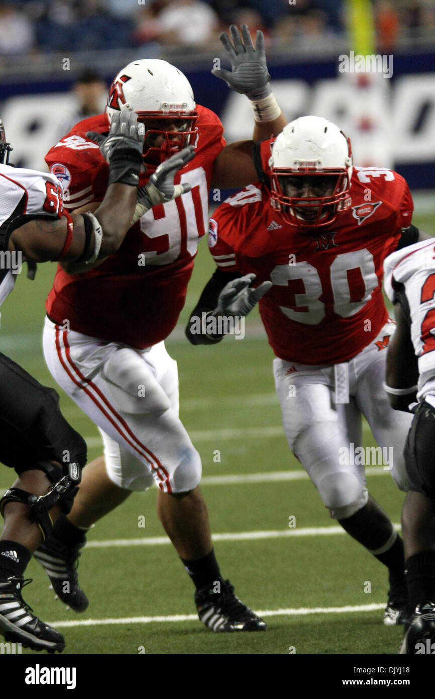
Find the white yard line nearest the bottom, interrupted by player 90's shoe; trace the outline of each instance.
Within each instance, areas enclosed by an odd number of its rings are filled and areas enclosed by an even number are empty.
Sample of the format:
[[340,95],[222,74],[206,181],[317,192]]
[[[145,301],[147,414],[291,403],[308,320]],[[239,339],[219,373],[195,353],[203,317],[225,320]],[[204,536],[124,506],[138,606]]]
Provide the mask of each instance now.
[[[346,605],[345,607],[300,607],[300,609],[258,610],[260,617],[301,617],[307,614],[348,614],[350,612],[376,612],[383,604]],[[71,626],[108,626],[112,624],[162,624],[165,621],[198,621],[197,614],[170,614],[165,617],[120,617],[119,619],[82,619],[80,621],[48,621],[56,628]]]

